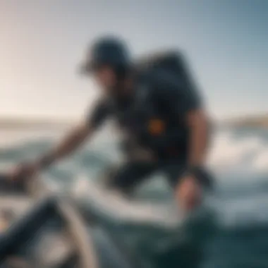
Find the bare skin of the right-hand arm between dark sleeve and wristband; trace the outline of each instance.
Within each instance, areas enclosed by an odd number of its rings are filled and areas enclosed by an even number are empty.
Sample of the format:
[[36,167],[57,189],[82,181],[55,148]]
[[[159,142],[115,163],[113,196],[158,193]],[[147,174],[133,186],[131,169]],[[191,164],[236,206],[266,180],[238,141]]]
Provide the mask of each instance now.
[[202,111],[194,112],[189,117],[190,144],[188,164],[190,166],[202,166],[207,156],[209,121]]

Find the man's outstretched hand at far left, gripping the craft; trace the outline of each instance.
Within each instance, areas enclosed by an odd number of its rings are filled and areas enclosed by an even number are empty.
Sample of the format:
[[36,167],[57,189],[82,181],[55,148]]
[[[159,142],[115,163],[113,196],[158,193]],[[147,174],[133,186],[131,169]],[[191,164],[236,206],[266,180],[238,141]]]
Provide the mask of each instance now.
[[16,166],[16,169],[11,171],[10,178],[13,181],[23,181],[28,178],[32,178],[39,171],[38,164],[26,163]]

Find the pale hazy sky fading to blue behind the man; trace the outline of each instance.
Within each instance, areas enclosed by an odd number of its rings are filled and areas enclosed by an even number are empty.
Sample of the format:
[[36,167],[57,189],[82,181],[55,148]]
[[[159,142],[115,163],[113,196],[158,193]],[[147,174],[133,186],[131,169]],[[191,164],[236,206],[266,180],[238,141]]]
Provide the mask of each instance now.
[[97,87],[78,74],[92,40],[133,55],[184,51],[212,116],[267,112],[266,0],[0,0],[0,116],[83,116]]

